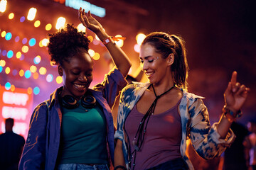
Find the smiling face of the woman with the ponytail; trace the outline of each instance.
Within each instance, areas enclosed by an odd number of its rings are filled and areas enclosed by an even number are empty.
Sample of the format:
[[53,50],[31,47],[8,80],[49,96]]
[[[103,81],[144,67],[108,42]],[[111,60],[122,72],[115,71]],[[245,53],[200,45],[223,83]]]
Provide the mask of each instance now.
[[170,57],[164,59],[160,53],[156,52],[154,46],[146,43],[142,45],[139,53],[140,66],[146,74],[146,78],[151,84],[161,84],[169,81],[171,77],[170,66],[173,63]]

